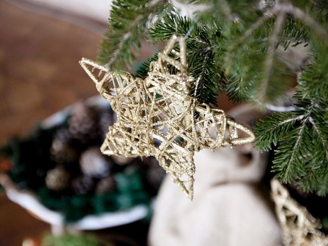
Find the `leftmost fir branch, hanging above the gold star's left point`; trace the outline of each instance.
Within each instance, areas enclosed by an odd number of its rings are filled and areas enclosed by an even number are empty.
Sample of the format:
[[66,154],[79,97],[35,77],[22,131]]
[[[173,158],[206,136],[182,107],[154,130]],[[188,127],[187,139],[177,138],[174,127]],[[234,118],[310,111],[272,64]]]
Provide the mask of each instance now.
[[156,14],[165,0],[115,0],[112,3],[108,31],[100,44],[98,61],[113,70],[134,62],[151,14]]

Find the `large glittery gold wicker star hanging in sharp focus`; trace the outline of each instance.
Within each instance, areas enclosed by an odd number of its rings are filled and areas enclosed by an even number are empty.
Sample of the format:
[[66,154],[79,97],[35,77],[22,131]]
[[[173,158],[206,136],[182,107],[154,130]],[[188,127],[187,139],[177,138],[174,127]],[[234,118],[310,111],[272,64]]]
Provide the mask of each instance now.
[[[173,49],[177,42],[179,52]],[[196,84],[197,79],[188,75],[182,37],[172,36],[158,60],[150,64],[145,79],[110,72],[86,58],[80,60],[80,65],[117,113],[101,151],[126,157],[155,156],[190,199],[194,151],[245,144],[254,139],[251,129],[190,95],[190,85]],[[170,73],[173,67],[177,71],[174,74]],[[243,137],[239,137],[240,133]]]

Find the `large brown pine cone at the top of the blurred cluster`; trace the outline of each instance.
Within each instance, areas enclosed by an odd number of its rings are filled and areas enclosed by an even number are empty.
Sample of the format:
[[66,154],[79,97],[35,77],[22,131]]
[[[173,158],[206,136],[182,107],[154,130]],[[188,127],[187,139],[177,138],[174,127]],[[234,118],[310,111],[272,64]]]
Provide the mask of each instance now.
[[77,104],[71,118],[69,119],[68,131],[73,138],[82,144],[96,139],[98,134],[98,114],[97,112],[83,103]]

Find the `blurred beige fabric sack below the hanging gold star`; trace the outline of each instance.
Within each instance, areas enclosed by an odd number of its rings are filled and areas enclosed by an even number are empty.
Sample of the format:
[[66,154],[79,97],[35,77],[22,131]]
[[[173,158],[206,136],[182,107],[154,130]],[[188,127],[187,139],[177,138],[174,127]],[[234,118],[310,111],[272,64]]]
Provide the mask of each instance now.
[[270,191],[260,183],[265,154],[244,145],[202,150],[194,159],[194,200],[167,175],[156,200],[149,245],[282,245]]

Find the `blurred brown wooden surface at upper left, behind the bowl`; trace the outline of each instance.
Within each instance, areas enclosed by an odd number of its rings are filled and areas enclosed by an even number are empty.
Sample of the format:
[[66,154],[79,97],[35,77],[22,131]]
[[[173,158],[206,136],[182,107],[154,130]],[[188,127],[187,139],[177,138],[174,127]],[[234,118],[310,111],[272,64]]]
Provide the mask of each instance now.
[[97,94],[78,60],[95,58],[98,35],[4,1],[0,34],[1,145],[12,134]]

